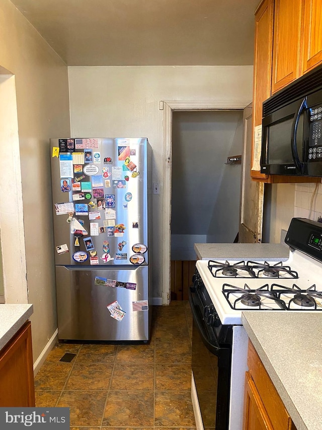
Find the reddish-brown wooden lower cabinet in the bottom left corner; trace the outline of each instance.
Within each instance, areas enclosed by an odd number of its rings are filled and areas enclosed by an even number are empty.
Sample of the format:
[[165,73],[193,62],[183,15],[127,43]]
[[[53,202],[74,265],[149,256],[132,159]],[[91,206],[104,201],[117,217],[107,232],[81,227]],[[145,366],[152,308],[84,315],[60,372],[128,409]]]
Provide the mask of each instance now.
[[0,351],[0,407],[35,406],[31,324]]

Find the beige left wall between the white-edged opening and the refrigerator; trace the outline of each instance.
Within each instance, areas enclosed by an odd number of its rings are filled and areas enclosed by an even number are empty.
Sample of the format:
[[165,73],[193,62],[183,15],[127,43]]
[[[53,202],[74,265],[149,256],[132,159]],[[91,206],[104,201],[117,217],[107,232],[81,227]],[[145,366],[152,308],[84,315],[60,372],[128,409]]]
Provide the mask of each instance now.
[[[28,302],[34,306],[31,322],[36,360],[57,328],[49,138],[70,133],[68,76],[62,60],[8,0],[0,3],[0,40],[0,67],[15,79],[21,158],[23,226],[20,244],[14,243],[21,247],[22,256],[26,254],[25,261],[12,259],[4,272],[15,266],[21,270],[26,264]],[[16,167],[19,176],[20,166]],[[7,192],[10,205],[10,190],[2,183],[2,193]],[[0,225],[2,231],[9,227]],[[5,280],[9,296],[13,288]]]

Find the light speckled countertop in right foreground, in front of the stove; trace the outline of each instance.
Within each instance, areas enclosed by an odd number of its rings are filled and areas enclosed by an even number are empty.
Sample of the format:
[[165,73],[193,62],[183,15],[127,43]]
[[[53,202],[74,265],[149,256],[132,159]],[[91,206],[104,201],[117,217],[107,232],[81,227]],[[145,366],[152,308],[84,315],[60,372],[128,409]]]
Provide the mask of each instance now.
[[241,321],[297,430],[320,429],[322,313],[246,311]]

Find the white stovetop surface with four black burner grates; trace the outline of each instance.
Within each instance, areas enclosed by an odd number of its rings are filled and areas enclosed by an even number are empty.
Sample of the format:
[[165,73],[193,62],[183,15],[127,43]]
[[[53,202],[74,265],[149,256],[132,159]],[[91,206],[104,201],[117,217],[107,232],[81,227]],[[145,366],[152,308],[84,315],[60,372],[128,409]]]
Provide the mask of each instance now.
[[223,325],[240,325],[242,311],[322,311],[321,263],[298,250],[284,262],[199,260],[196,268]]

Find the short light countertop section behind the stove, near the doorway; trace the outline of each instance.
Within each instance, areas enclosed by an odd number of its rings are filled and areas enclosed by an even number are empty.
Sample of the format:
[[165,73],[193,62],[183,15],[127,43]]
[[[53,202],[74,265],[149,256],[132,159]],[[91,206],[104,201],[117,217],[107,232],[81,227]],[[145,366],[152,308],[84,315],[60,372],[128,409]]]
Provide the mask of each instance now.
[[289,248],[283,243],[195,243],[200,260],[285,261]]

